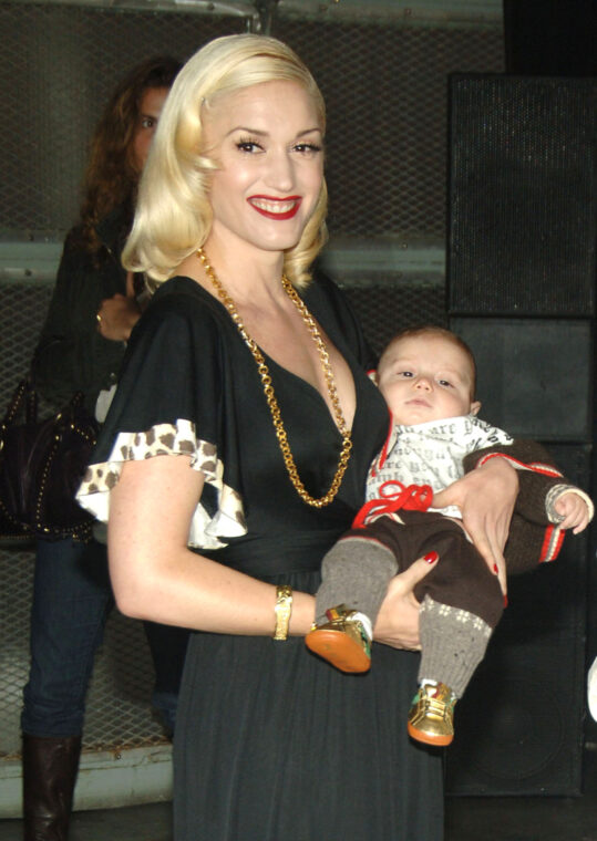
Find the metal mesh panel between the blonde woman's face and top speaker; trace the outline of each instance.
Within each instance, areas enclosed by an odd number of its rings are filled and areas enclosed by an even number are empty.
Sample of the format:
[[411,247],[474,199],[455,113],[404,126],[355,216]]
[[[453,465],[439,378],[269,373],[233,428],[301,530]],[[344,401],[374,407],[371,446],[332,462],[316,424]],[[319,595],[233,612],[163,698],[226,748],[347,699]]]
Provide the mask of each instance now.
[[445,232],[447,74],[502,70],[500,30],[279,20],[328,105],[332,235]]

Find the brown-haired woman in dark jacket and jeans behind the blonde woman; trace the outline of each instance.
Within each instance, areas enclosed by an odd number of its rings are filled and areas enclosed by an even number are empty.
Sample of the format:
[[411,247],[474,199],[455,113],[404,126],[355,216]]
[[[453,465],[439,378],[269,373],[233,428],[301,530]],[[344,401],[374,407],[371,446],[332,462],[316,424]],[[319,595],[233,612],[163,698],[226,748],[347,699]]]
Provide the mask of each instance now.
[[[134,68],[95,129],[79,225],[66,237],[33,360],[37,387],[56,407],[76,391],[101,422],[143,307],[141,280],[122,268],[137,183],[162,106],[179,70],[169,56]],[[114,604],[105,540],[40,540],[24,687],[25,841],[65,841],[93,658]],[[174,728],[187,634],[146,623],[156,682],[153,705]]]

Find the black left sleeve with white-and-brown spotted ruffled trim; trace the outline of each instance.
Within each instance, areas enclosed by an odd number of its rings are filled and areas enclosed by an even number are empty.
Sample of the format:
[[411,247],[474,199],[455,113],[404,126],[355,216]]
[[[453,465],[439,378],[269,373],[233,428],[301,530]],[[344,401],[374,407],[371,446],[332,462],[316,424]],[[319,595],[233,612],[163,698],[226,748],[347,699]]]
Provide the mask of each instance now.
[[168,281],[140,320],[78,499],[107,522],[111,490],[125,461],[188,456],[206,480],[188,544],[217,549],[247,529],[234,464],[227,460],[234,447],[222,433],[227,390],[222,328],[226,332],[228,324],[217,302],[202,293],[191,280]]

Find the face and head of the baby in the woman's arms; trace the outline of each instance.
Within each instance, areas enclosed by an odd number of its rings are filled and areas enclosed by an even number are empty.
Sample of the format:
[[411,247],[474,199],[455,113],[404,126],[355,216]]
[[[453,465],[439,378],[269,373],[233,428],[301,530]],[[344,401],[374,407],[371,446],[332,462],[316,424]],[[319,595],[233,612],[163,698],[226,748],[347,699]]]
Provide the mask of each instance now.
[[440,335],[400,339],[385,350],[378,385],[397,424],[412,426],[478,412],[464,351]]

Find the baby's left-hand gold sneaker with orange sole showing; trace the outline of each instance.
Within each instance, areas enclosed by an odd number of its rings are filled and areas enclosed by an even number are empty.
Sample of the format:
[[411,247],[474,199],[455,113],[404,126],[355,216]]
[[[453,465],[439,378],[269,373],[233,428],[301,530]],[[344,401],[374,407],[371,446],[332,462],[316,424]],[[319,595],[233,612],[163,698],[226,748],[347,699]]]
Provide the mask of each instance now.
[[310,651],[319,654],[341,672],[368,672],[371,666],[371,640],[357,611],[339,604],[326,611],[329,622],[313,625],[305,637]]

